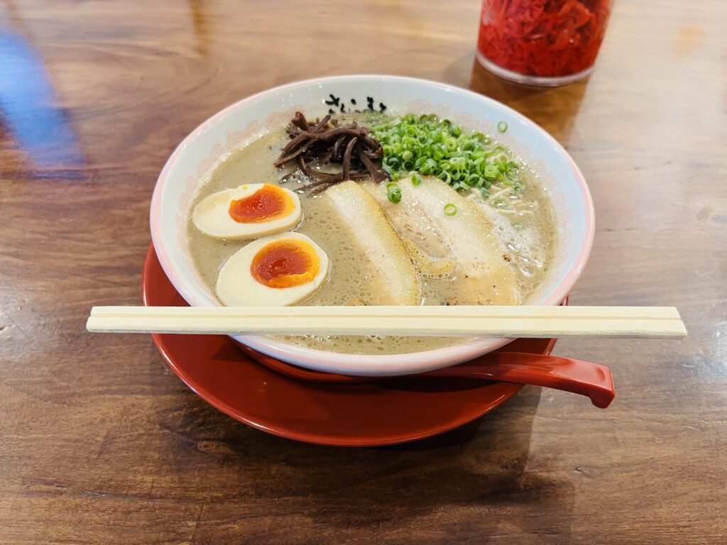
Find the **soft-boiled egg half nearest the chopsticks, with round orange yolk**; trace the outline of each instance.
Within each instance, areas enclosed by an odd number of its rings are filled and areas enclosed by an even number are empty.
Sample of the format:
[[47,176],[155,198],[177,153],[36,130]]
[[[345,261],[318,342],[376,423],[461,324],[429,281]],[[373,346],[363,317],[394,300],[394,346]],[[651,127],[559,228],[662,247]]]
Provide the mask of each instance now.
[[222,265],[217,296],[228,307],[295,304],[328,277],[329,259],[301,233],[281,233],[249,243]]

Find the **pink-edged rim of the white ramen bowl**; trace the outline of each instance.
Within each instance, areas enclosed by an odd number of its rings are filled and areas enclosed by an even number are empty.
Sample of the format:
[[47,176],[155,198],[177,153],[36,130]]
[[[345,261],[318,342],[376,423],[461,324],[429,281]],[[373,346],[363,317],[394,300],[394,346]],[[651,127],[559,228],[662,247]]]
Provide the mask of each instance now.
[[[432,81],[423,78],[411,78],[408,76],[392,76],[387,74],[356,74],[356,75],[343,75],[343,76],[326,76],[321,78],[309,78],[300,81],[293,81],[289,84],[281,86],[271,87],[261,92],[245,97],[226,108],[214,113],[212,116],[207,118],[201,124],[196,126],[185,138],[177,145],[172,154],[164,163],[164,167],[161,169],[161,173],[158,176],[156,185],[154,186],[153,195],[150,205],[150,230],[151,238],[153,241],[154,248],[158,254],[159,262],[161,263],[164,273],[169,277],[169,280],[174,285],[174,288],[180,292],[182,297],[191,305],[198,306],[195,304],[197,299],[196,294],[193,291],[188,290],[185,286],[185,282],[181,280],[180,275],[177,275],[174,267],[172,266],[172,259],[169,252],[164,244],[164,236],[161,229],[161,206],[162,196],[164,193],[164,187],[169,179],[170,171],[172,167],[180,158],[182,153],[188,146],[196,140],[196,138],[210,129],[217,121],[232,113],[240,108],[245,108],[250,104],[254,104],[255,101],[262,97],[270,94],[276,94],[286,92],[288,90],[297,89],[300,87],[310,86],[314,84],[324,85],[327,82],[341,82],[341,81],[393,81],[394,83],[399,82],[401,84],[417,84],[423,86],[433,87],[443,92],[449,92],[452,94],[459,94],[470,99],[478,100],[489,105],[490,108],[502,109],[507,111],[510,116],[520,121],[522,124],[529,126],[531,129],[535,129],[545,142],[552,146],[556,153],[563,156],[568,163],[574,178],[578,182],[579,188],[583,195],[586,232],[585,232],[585,244],[583,244],[579,255],[571,266],[571,269],[558,286],[555,286],[550,290],[550,294],[542,302],[542,306],[561,304],[563,299],[568,296],[573,286],[577,283],[581,277],[585,264],[590,257],[590,252],[593,249],[593,238],[595,235],[595,209],[593,206],[593,198],[591,197],[590,190],[588,188],[585,177],[580,171],[579,167],[566,151],[565,148],[550,135],[542,126],[532,121],[530,118],[523,116],[523,114],[510,108],[509,106],[502,104],[498,100],[494,100],[491,97],[487,97],[484,94],[480,94],[470,89],[464,89],[459,86],[442,83],[439,81]],[[288,342],[280,341],[278,339],[272,339],[268,336],[234,336],[234,339],[239,342],[243,342],[247,346],[262,352],[266,355],[272,356],[284,360],[287,363],[293,363],[308,368],[317,369],[319,371],[331,371],[342,374],[357,374],[357,375],[379,375],[379,374],[411,374],[415,372],[430,371],[436,368],[442,368],[447,366],[453,366],[457,363],[476,358],[478,355],[483,355],[486,352],[497,350],[497,348],[504,346],[513,339],[491,339],[491,338],[478,338],[473,339],[461,344],[456,344],[451,347],[443,347],[435,350],[426,350],[424,352],[407,352],[405,354],[387,354],[387,355],[358,355],[358,354],[342,354],[340,352],[328,352],[326,350],[317,350],[308,347],[301,347]]]

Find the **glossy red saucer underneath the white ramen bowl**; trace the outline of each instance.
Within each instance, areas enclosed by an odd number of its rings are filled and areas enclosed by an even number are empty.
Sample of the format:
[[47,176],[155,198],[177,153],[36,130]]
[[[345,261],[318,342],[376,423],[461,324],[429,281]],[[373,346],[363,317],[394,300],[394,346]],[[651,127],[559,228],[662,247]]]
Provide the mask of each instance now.
[[[144,304],[187,306],[153,246],[144,265]],[[374,446],[431,437],[478,419],[521,384],[412,377],[369,384],[300,382],[270,371],[228,336],[152,335],[172,371],[207,403],[249,426],[321,445]],[[517,339],[508,352],[550,354],[555,339]]]

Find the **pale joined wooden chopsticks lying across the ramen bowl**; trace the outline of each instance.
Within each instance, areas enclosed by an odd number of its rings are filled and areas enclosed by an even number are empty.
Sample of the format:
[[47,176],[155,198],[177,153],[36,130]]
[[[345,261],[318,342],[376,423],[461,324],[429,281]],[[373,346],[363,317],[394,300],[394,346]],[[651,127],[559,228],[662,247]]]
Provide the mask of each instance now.
[[686,336],[675,307],[93,307],[99,333]]

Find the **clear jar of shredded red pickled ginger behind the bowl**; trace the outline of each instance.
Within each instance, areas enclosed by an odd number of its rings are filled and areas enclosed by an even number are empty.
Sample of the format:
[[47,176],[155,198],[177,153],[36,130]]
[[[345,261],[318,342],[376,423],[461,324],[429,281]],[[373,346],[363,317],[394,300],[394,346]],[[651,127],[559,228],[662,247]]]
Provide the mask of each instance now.
[[521,84],[573,83],[593,70],[610,13],[611,0],[483,0],[477,58]]

